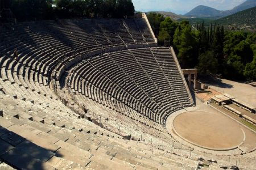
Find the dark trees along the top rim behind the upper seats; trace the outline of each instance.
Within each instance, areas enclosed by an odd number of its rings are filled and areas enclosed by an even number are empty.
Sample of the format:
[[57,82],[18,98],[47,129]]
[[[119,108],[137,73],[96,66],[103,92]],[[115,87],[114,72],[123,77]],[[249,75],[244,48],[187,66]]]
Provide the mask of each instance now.
[[[4,0],[6,1],[6,0]],[[131,0],[10,0],[5,3],[18,20],[125,18],[134,14]]]

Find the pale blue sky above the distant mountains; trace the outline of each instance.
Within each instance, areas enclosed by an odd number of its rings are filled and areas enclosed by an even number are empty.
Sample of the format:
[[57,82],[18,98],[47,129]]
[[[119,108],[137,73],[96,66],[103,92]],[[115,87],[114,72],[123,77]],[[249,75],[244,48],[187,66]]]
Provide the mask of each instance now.
[[185,14],[198,5],[205,5],[217,10],[231,10],[246,0],[132,0],[135,10],[170,11],[176,14]]

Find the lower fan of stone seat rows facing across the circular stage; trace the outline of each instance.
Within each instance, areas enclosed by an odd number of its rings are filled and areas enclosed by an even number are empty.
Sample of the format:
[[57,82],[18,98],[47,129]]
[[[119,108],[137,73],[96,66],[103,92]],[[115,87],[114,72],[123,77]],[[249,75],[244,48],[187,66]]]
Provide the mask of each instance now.
[[69,92],[81,98],[162,125],[172,112],[192,105],[170,48],[100,54],[72,67],[67,79]]

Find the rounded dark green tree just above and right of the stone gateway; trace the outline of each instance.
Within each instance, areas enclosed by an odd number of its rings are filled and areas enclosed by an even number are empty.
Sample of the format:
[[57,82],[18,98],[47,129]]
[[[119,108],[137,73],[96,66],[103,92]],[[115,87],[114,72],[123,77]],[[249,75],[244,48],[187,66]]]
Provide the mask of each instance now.
[[199,74],[208,75],[216,74],[218,69],[218,61],[212,51],[207,51],[199,56],[197,69]]

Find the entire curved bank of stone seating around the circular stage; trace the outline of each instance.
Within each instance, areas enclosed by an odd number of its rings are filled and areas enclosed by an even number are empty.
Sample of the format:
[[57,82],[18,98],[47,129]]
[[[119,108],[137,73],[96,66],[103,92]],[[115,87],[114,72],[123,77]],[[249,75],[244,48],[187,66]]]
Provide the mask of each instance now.
[[201,152],[162,126],[192,100],[173,53],[152,47],[144,19],[0,29],[0,169],[198,167]]

